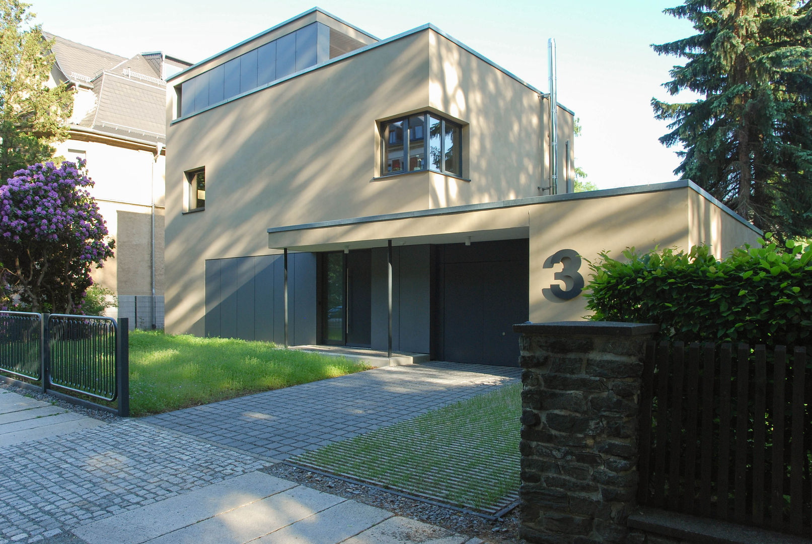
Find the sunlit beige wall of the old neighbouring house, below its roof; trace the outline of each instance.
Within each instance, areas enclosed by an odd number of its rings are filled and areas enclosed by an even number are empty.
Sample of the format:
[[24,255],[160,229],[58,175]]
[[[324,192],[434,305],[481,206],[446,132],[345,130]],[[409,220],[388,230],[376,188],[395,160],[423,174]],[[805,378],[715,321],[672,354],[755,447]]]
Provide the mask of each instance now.
[[85,152],[94,183],[90,193],[116,242],[115,256],[93,270],[93,281],[119,295],[151,294],[150,202],[154,196],[155,294],[162,295],[165,158],[155,161],[151,151],[94,141],[67,140],[56,147],[56,155],[70,161],[76,161],[76,153],[68,149]]

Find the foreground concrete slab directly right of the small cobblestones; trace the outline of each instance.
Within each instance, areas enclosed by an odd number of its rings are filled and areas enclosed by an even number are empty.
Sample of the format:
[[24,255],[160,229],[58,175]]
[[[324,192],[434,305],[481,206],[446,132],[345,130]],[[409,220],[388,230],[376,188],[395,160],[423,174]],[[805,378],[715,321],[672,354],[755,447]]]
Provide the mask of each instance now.
[[73,529],[89,544],[139,544],[295,487],[266,473],[248,473]]

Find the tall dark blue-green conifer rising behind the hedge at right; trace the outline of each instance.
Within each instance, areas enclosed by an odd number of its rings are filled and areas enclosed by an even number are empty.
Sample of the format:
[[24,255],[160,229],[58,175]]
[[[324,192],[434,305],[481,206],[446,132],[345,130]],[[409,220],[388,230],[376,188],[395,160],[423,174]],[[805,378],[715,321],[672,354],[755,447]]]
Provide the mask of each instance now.
[[812,234],[812,0],[685,0],[664,10],[697,34],[658,54],[686,59],[663,84],[702,98],[652,99],[671,120],[674,171],[780,237]]

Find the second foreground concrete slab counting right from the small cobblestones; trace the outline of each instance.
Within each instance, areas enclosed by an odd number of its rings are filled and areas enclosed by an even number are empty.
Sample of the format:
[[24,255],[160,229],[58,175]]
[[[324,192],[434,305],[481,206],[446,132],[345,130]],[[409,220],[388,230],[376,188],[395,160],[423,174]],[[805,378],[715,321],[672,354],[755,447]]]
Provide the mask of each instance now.
[[346,499],[296,486],[244,507],[188,525],[150,544],[244,544],[296,521],[313,516]]

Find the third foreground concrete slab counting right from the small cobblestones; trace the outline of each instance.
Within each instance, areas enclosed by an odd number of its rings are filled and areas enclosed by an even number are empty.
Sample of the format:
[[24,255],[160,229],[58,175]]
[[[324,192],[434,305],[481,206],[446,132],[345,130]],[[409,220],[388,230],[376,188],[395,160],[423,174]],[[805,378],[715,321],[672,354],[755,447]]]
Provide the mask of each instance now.
[[343,542],[391,516],[394,514],[386,510],[347,500],[274,531],[274,533],[257,539],[254,543],[294,544],[301,542],[311,544],[319,542],[320,544],[330,544]]

